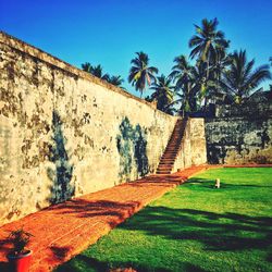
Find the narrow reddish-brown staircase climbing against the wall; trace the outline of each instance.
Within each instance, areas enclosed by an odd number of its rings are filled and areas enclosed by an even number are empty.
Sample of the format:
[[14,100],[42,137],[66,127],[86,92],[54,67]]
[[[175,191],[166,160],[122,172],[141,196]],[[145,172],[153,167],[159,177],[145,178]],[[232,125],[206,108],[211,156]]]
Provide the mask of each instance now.
[[171,174],[175,163],[176,156],[178,153],[182,144],[182,138],[185,132],[186,124],[187,124],[187,118],[183,120],[178,119],[176,121],[174,131],[160,159],[160,163],[158,165],[156,174]]

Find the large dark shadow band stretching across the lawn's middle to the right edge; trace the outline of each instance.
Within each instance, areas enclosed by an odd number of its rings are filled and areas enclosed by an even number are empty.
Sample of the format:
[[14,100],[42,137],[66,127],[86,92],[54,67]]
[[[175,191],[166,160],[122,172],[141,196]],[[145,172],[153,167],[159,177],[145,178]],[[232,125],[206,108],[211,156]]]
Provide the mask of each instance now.
[[272,218],[147,207],[120,226],[168,239],[197,240],[208,250],[265,249],[272,245]]

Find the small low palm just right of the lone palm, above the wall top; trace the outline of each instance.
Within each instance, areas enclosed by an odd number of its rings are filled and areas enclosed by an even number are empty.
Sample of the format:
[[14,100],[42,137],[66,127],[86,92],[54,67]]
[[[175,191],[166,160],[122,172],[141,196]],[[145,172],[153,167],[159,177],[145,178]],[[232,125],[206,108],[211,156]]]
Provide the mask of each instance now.
[[154,90],[151,95],[151,101],[157,100],[157,109],[172,113],[170,104],[173,102],[174,86],[171,85],[171,78],[163,74],[158,76],[150,89]]

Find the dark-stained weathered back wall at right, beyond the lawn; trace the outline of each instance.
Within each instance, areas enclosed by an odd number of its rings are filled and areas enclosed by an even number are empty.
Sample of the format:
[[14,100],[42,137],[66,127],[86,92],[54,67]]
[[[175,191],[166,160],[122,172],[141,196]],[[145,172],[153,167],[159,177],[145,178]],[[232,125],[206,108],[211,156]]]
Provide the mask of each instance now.
[[206,138],[209,163],[272,163],[272,119],[265,111],[208,119]]

